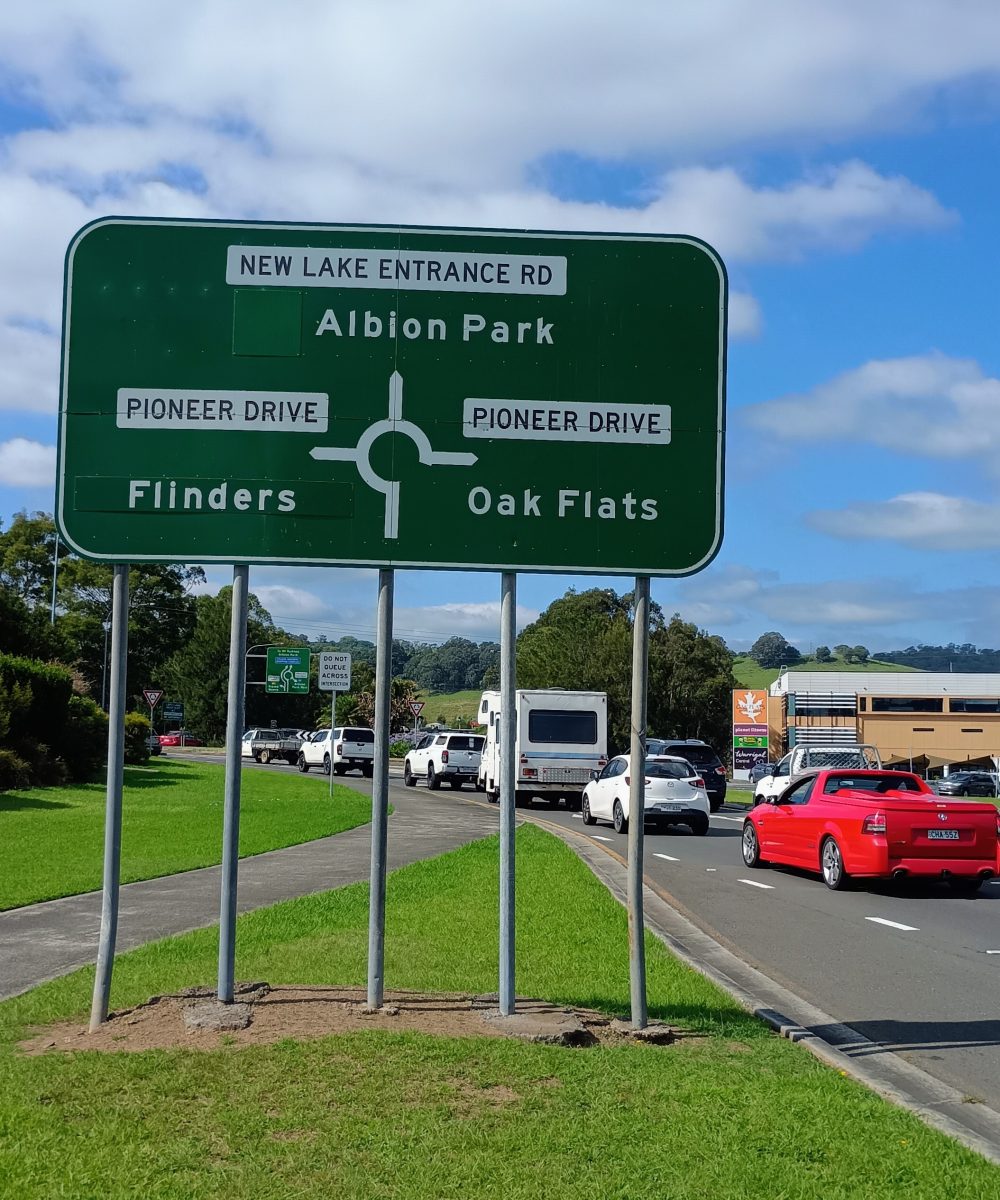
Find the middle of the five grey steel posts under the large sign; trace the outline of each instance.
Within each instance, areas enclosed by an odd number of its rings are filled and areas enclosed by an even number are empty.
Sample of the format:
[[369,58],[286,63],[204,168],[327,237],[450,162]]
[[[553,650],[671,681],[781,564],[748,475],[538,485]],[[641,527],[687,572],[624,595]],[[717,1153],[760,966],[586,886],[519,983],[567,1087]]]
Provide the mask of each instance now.
[[379,570],[369,892],[369,1008],[371,1009],[382,1008],[385,994],[385,851],[389,822],[389,685],[393,674],[394,580],[391,570]]

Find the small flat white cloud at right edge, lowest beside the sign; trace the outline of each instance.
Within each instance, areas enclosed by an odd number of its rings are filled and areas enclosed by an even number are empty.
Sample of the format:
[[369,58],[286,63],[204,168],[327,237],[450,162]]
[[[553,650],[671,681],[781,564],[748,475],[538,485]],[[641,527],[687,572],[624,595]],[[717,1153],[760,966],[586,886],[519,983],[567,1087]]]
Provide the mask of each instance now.
[[897,541],[921,550],[1000,548],[1000,504],[939,492],[810,512],[808,523],[834,538]]

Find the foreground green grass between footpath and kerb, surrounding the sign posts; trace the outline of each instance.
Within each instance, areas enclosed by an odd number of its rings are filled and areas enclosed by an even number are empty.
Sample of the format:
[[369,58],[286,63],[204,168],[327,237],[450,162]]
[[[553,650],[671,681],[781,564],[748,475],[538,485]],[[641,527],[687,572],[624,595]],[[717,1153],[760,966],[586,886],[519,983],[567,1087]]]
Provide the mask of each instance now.
[[[519,991],[622,1012],[623,911],[561,842],[517,834]],[[496,989],[497,842],[389,878],[389,988]],[[239,919],[238,974],[365,980],[367,889]],[[0,1193],[981,1200],[1000,1172],[782,1040],[647,938],[669,1049],[567,1050],[371,1031],[273,1046],[24,1058],[84,1019],[92,971],[0,1006]],[[210,930],[124,955],[114,1003],[215,976]],[[6,1189],[6,1190],[4,1190]]]

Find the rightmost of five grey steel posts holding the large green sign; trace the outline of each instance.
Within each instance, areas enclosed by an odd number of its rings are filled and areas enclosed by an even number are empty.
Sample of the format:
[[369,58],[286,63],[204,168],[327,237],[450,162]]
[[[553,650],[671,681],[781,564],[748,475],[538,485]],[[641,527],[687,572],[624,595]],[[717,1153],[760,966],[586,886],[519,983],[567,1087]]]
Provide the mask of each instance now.
[[646,684],[649,676],[649,577],[635,577],[631,632],[631,746],[629,750],[629,986],[631,1026],[645,1030],[646,941],[642,917],[642,822],[646,815]]

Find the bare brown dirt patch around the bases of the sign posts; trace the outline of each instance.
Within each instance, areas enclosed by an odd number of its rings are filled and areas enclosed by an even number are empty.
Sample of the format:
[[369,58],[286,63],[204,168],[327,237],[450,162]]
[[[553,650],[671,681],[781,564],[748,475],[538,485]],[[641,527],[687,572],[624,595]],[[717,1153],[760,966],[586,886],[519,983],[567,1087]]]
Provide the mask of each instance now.
[[[306,1040],[363,1030],[430,1033],[438,1037],[513,1037],[562,1045],[622,1045],[630,1031],[603,1013],[569,1009],[539,1000],[516,1002],[516,1021],[501,1016],[497,997],[468,994],[387,991],[383,1007],[367,1008],[364,988],[240,984],[234,1000],[247,1006],[245,1028],[192,1028],[191,1014],[214,1003],[210,988],[188,988],[154,996],[144,1004],[112,1013],[94,1033],[76,1022],[35,1031],[20,1043],[26,1055],[98,1050],[109,1054],[142,1050],[216,1050],[220,1046],[268,1045],[285,1038]],[[218,1006],[220,1012],[235,1006]],[[658,1027],[658,1044],[675,1040],[676,1031]],[[643,1040],[646,1040],[643,1038]]]

